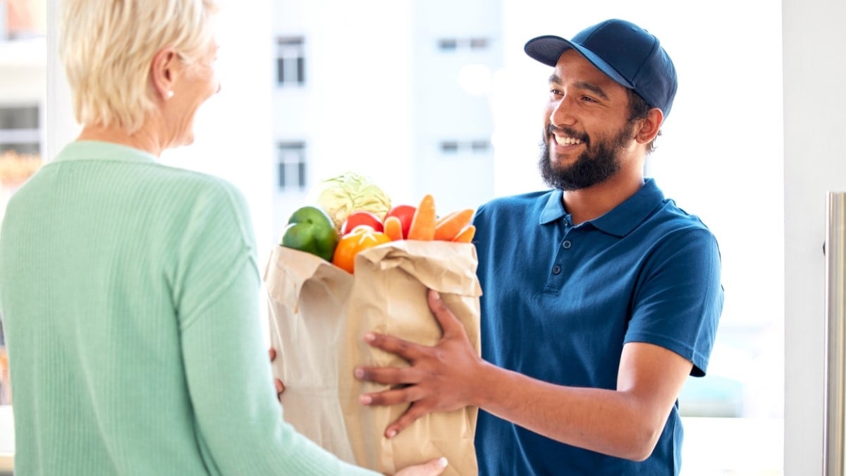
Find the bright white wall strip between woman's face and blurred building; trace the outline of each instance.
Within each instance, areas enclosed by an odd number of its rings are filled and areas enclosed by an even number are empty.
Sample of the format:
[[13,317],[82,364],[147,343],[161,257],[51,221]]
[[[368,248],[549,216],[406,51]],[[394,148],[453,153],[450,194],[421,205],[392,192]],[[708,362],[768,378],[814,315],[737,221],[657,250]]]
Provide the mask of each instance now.
[[226,178],[239,186],[252,211],[260,263],[272,235],[273,173],[270,0],[223,0],[217,16],[217,76],[221,91],[195,118],[195,142],[162,160]]

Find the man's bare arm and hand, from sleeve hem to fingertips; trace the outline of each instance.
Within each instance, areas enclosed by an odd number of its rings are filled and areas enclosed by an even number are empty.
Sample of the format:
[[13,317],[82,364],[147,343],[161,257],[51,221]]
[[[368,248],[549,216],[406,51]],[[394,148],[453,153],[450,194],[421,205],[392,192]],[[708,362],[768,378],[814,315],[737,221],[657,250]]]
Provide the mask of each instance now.
[[633,342],[623,348],[616,390],[552,385],[486,363],[434,291],[429,293],[429,305],[443,330],[437,346],[388,335],[365,336],[371,346],[410,363],[408,368],[356,370],[356,377],[363,380],[407,385],[360,397],[365,405],[411,403],[388,425],[388,437],[429,412],[471,405],[553,440],[640,461],[655,448],[693,367],[673,351]]

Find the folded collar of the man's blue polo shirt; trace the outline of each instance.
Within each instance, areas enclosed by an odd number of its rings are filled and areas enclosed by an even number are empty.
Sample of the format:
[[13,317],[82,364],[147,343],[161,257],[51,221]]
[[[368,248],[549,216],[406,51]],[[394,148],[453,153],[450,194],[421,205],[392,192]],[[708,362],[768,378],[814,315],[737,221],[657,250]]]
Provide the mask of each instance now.
[[[562,197],[563,192],[560,190],[552,191],[549,194],[547,204],[541,211],[541,224],[551,223],[569,214],[564,209]],[[633,196],[629,196],[625,202],[620,203],[601,217],[586,223],[590,223],[608,234],[625,236],[643,222],[663,201],[664,194],[656,185],[655,180],[646,179],[640,190]]]

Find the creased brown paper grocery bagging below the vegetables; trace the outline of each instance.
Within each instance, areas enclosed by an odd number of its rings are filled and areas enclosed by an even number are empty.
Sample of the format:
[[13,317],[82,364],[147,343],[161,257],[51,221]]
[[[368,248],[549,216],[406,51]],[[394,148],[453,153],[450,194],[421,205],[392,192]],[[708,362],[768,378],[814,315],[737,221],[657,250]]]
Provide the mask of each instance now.
[[382,473],[443,456],[449,460],[444,474],[474,476],[475,407],[431,413],[387,440],[387,424],[407,406],[360,405],[360,394],[387,387],[354,379],[353,369],[407,365],[367,346],[362,336],[370,330],[437,343],[441,329],[426,303],[429,288],[441,293],[480,351],[476,265],[469,243],[393,241],[361,252],[353,276],[275,246],[265,282],[286,421],[343,460]]

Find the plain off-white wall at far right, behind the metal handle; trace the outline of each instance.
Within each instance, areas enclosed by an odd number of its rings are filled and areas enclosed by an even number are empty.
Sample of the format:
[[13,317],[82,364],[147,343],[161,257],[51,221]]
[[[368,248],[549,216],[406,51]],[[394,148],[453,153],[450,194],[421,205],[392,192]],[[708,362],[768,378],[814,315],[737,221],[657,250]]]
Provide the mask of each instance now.
[[[783,0],[784,473],[821,474],[827,191],[846,191],[846,3]],[[755,78],[745,82],[755,87]]]

